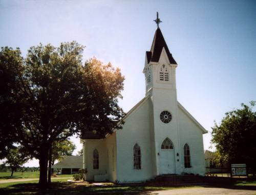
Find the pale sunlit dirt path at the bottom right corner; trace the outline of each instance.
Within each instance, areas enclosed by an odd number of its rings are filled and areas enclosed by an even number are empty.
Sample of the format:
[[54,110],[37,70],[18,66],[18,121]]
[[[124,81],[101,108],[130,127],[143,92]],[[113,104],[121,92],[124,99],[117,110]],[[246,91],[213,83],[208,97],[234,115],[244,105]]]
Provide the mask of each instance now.
[[182,188],[182,189],[170,189],[163,191],[152,191],[150,195],[196,195],[196,194],[256,194],[256,190],[247,190],[247,189],[227,189],[227,188],[218,188],[218,187],[200,187],[200,188]]

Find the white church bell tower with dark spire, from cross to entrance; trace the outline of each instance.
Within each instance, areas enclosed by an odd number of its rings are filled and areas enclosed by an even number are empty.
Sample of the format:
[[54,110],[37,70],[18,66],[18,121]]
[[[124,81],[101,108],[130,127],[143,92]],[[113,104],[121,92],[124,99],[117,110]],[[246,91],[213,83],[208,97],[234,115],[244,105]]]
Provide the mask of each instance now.
[[[177,104],[177,89],[176,89],[176,67],[177,62],[169,51],[169,48],[163,38],[163,34],[159,28],[160,19],[157,17],[156,22],[158,28],[156,30],[151,50],[146,52],[145,66],[143,73],[145,75],[145,95],[150,97],[152,105],[150,117],[153,126],[152,139],[154,152],[154,161],[156,166],[153,168],[154,175],[163,174],[161,168],[162,147],[160,145],[166,138],[172,139],[175,153],[172,154],[172,163],[166,166],[168,173],[180,173],[180,141],[178,128],[178,104]],[[170,140],[169,139],[169,140]],[[165,148],[166,149],[166,148]],[[165,158],[165,157],[163,157]]]

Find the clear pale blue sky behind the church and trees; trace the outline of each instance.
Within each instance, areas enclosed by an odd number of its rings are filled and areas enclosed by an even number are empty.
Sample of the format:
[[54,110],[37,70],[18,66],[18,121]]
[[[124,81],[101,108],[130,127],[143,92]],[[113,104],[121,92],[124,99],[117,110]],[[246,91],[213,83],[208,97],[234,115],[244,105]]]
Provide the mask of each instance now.
[[[225,112],[256,100],[256,1],[0,0],[0,46],[20,47],[26,56],[40,42],[76,40],[86,46],[84,60],[96,57],[121,68],[120,106],[129,111],[145,95],[142,70],[157,11],[178,63],[178,101],[206,130]],[[81,149],[79,139],[72,140]]]

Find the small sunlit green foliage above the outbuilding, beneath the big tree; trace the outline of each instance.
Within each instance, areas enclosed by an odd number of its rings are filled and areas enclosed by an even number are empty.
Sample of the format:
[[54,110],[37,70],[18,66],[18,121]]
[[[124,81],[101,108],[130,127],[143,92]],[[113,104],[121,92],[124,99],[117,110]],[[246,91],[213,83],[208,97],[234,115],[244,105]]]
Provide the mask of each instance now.
[[70,156],[76,149],[75,144],[66,139],[63,141],[54,141],[52,147],[52,164],[55,160],[61,160],[62,156]]

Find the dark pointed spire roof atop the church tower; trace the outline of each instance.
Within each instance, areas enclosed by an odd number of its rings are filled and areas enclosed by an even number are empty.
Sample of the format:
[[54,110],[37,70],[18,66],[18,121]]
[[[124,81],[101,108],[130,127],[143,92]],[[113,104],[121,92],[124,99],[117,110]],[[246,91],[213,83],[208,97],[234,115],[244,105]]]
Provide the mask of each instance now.
[[163,34],[162,34],[160,28],[157,28],[157,30],[156,30],[154,40],[153,40],[153,43],[151,46],[151,51],[146,52],[147,63],[149,63],[150,61],[158,62],[160,55],[162,53],[163,47],[165,48],[169,62],[171,64],[177,64],[177,62],[173,58],[173,55],[170,53],[170,51],[168,49],[168,46],[163,38]]

